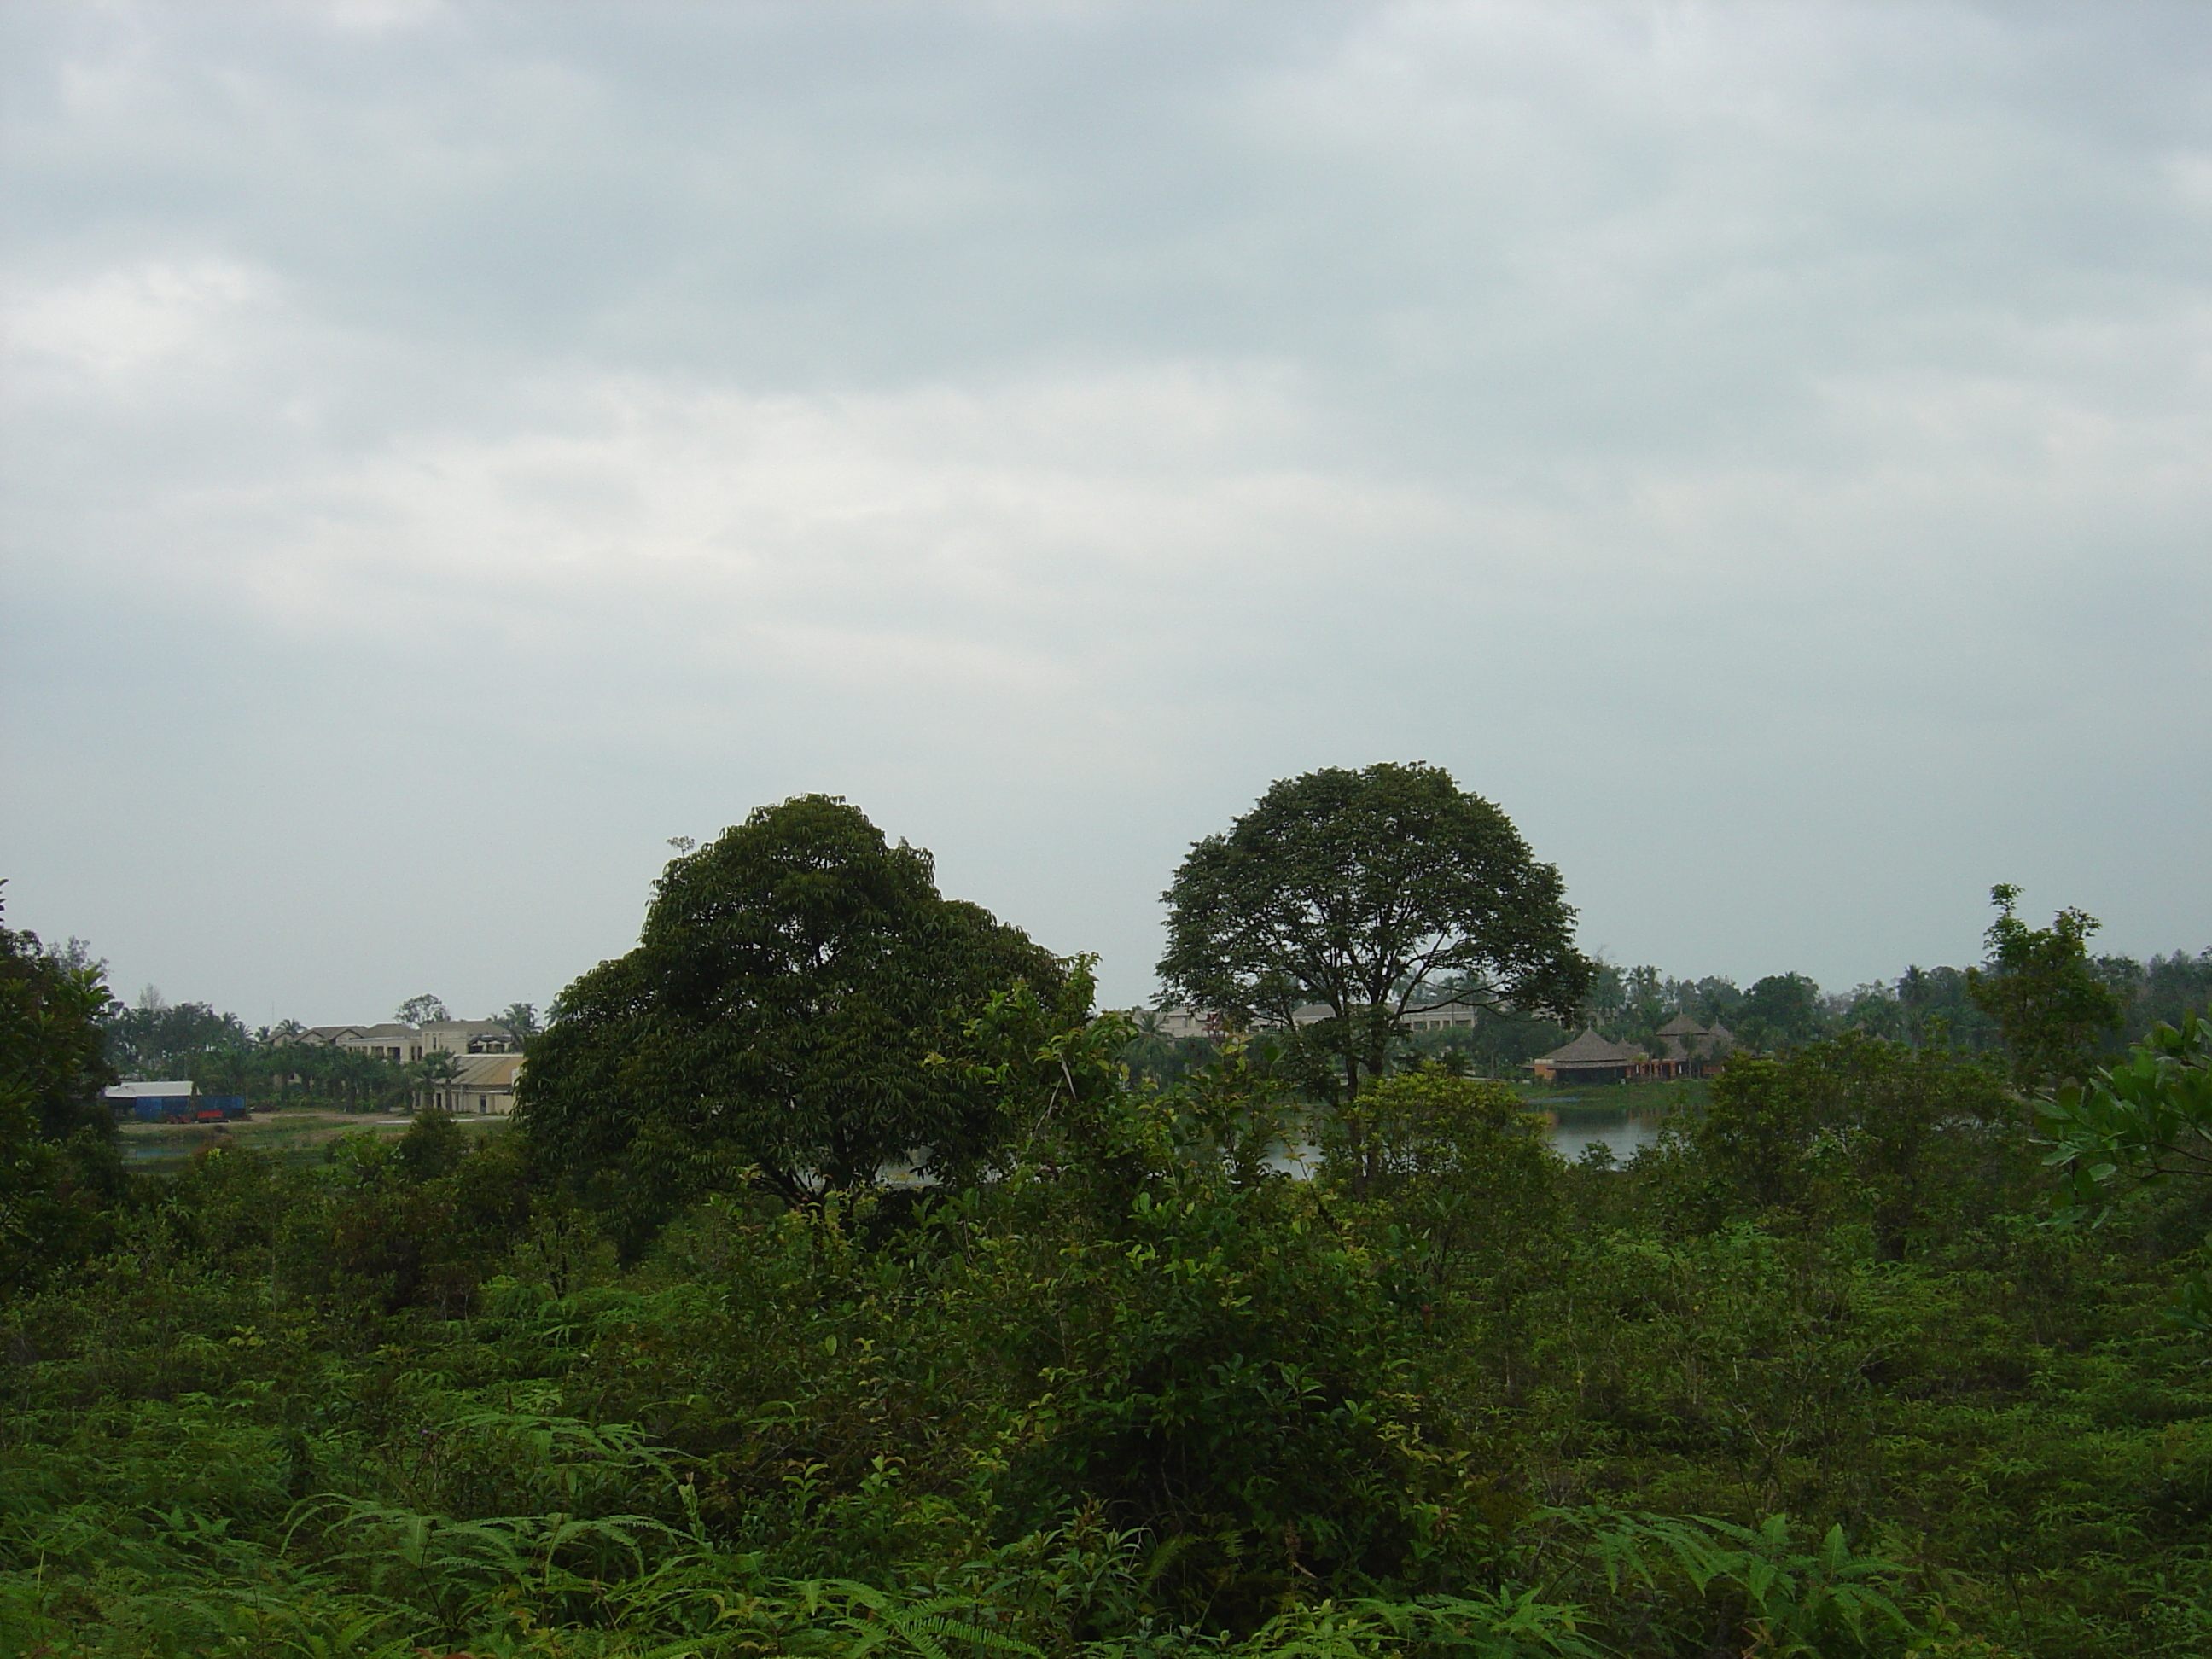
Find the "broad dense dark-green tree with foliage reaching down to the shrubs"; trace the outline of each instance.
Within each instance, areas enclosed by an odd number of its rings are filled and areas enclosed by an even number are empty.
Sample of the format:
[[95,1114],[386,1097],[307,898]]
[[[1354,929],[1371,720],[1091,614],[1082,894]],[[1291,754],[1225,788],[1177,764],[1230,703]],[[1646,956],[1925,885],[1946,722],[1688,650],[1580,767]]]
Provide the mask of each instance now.
[[931,1055],[958,1046],[958,1011],[1062,978],[942,898],[927,852],[799,796],[668,863],[637,949],[571,984],[531,1042],[522,1124],[630,1248],[745,1170],[816,1203],[905,1152],[958,1168],[1000,1133],[998,1099]]

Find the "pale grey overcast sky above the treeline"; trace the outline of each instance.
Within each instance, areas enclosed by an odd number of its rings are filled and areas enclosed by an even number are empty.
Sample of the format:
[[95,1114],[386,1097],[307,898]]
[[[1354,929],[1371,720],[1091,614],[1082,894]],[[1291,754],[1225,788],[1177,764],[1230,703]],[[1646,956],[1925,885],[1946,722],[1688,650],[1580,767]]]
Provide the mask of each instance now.
[[0,9],[7,918],[544,1002],[845,794],[1148,998],[1433,761],[1619,962],[2212,945],[2212,7]]

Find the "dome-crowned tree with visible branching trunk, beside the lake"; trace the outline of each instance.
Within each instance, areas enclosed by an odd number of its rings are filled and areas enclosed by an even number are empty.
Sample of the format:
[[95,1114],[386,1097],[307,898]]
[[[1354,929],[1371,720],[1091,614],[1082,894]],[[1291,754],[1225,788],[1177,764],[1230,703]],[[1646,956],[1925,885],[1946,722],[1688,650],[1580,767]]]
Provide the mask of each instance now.
[[[1590,987],[1559,869],[1436,765],[1276,783],[1190,849],[1166,900],[1170,995],[1276,1026],[1327,1099],[1385,1068],[1416,1002],[1568,1020]],[[1312,1004],[1325,1018],[1298,1022]]]

